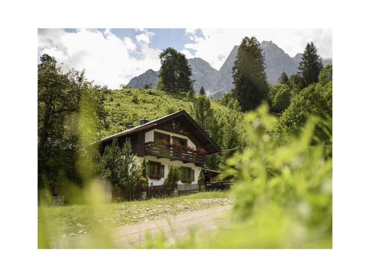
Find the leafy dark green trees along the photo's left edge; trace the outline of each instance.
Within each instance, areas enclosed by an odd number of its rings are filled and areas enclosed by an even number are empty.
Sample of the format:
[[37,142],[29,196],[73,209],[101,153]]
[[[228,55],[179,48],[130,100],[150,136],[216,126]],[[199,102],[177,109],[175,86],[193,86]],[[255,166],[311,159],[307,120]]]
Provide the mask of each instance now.
[[[43,54],[37,66],[38,185],[56,181],[63,170],[68,179],[81,183],[75,170],[84,141],[94,141],[107,127],[104,110],[106,87],[87,81],[85,72],[63,73],[54,57]],[[84,119],[87,119],[84,120]],[[84,130],[78,133],[78,130]]]

